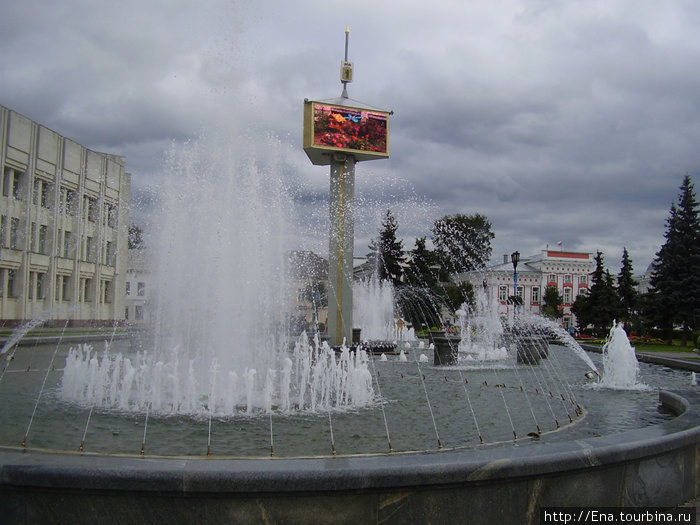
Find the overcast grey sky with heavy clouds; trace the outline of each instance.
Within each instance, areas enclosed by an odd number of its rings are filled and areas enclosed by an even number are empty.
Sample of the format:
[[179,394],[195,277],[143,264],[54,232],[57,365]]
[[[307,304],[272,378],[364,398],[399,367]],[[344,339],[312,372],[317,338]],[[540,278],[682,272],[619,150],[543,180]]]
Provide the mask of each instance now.
[[358,255],[389,208],[406,248],[481,213],[494,259],[561,241],[615,272],[623,246],[651,262],[700,173],[696,0],[6,1],[0,104],[125,156],[135,198],[167,182],[173,141],[235,121],[275,138],[325,220],[302,101],[340,95],[346,25],[350,97],[395,112],[391,158],[357,166]]

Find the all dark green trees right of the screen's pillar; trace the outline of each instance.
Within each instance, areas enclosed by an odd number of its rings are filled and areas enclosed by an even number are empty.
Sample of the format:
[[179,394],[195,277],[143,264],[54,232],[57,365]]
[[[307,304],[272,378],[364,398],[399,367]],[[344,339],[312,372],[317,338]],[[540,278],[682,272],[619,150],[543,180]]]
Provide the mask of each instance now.
[[[700,310],[700,218],[690,176],[680,186],[677,203],[666,220],[665,242],[651,265],[649,291],[640,294],[632,260],[623,248],[620,271],[606,269],[604,254],[595,255],[595,270],[586,295],[572,306],[580,329],[604,336],[614,321],[628,332],[662,335],[668,344],[680,331],[681,345],[695,343]],[[367,257],[380,279],[391,281],[404,317],[416,327],[439,324],[440,307],[456,310],[473,301],[469,283],[457,285],[450,275],[483,268],[491,257],[494,233],[481,214],[447,215],[431,228],[434,249],[426,237],[417,238],[405,252],[397,237],[398,223],[387,210],[379,235],[372,239]],[[563,299],[556,287],[543,294],[542,313],[561,317]]]

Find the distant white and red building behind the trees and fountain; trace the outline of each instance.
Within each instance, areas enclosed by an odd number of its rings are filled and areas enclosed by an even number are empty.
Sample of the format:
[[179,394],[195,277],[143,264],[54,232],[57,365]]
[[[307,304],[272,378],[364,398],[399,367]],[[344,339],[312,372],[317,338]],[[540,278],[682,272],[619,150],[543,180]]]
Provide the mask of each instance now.
[[[520,308],[540,313],[546,288],[555,286],[563,298],[563,326],[575,325],[571,306],[580,294],[588,293],[594,269],[595,260],[590,253],[542,250],[537,255],[521,257],[517,266],[517,295],[523,302]],[[509,255],[504,255],[500,264],[459,274],[455,281],[469,281],[475,288],[484,287],[488,300],[499,305],[499,314],[507,316],[512,312],[513,305],[508,304],[508,297],[513,295],[514,275]]]

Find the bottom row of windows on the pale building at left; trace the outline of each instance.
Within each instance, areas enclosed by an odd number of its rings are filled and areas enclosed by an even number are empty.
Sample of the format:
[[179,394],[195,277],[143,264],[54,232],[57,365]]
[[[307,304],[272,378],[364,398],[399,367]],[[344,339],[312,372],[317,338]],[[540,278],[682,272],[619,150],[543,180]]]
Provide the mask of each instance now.
[[[54,286],[54,299],[57,302],[71,301],[72,277],[69,275],[57,275]],[[99,299],[103,303],[111,303],[113,300],[112,281],[100,281]],[[47,298],[48,278],[45,272],[29,272],[29,287],[27,298],[30,300],[44,301]],[[91,302],[93,300],[93,279],[81,278],[78,300]],[[16,270],[0,268],[0,297],[15,298],[19,296],[18,273]]]

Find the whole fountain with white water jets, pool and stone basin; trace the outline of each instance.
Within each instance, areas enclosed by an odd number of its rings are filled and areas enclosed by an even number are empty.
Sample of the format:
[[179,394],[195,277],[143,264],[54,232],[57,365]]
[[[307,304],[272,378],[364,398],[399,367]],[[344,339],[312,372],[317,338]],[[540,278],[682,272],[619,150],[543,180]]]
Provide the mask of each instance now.
[[[687,377],[654,379],[644,365],[654,389],[592,389],[585,372],[612,369],[545,319],[504,324],[477,294],[460,312],[457,362],[435,366],[429,341],[396,337],[391,286],[371,281],[356,288],[355,318],[399,355],[293,338],[284,185],[222,151],[194,143],[171,159],[178,183],[149,240],[163,254],[150,343],[11,338],[0,379],[9,520],[444,521],[468,508],[484,523],[522,522],[562,502],[694,496],[697,396],[656,390]],[[518,345],[545,332],[559,344],[519,363]],[[657,396],[679,416],[657,413]]]

